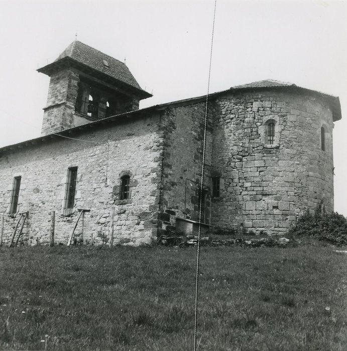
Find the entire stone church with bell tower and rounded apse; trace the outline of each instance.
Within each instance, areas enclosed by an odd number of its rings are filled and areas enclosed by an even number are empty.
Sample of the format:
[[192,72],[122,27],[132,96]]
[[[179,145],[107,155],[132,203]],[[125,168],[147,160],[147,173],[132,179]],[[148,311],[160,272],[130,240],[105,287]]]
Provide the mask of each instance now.
[[206,96],[139,109],[151,94],[128,67],[79,41],[38,72],[42,135],[0,148],[3,245],[20,229],[49,243],[53,211],[56,244],[114,245],[194,231],[200,197],[204,230],[278,234],[333,211],[338,97],[270,79],[210,94],[200,189]]

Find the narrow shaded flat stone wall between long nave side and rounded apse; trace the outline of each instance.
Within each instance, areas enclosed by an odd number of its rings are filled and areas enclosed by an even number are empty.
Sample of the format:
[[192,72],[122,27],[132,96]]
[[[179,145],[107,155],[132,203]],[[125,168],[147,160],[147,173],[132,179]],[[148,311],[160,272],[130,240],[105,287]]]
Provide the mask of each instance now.
[[[176,217],[199,219],[205,103],[188,103],[167,108],[162,117],[164,143],[162,207],[160,226],[175,225]],[[210,121],[210,119],[209,119]],[[209,192],[211,125],[206,132],[205,187]],[[206,208],[206,222],[209,222]]]

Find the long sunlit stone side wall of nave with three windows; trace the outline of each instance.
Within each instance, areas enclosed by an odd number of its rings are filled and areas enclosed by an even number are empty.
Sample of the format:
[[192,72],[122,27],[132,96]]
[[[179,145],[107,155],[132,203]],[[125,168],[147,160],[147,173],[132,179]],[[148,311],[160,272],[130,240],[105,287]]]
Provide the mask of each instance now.
[[[98,244],[110,239],[114,213],[114,244],[150,243],[157,235],[163,140],[160,116],[104,124],[69,135],[85,141],[55,137],[0,155],[0,213],[5,216],[4,244],[8,245],[19,213],[28,211],[22,242],[49,242],[50,213],[56,212],[56,243],[66,244],[77,209],[89,209],[76,230],[76,239]],[[75,205],[64,210],[67,173],[77,168]],[[130,175],[131,199],[120,200],[121,177]],[[21,176],[16,215],[9,214],[13,179]]]

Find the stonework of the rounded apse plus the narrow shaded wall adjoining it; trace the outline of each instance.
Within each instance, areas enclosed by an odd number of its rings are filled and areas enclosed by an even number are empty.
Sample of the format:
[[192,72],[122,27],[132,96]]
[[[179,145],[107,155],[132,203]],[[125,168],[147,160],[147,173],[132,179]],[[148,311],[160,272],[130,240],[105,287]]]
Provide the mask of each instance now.
[[[211,99],[209,111],[203,222],[274,234],[307,209],[333,211],[333,122],[325,100],[296,90],[229,92]],[[199,219],[204,113],[204,101],[190,102],[173,104],[162,117],[162,229],[176,217]],[[220,177],[220,196],[210,202],[211,177]]]

